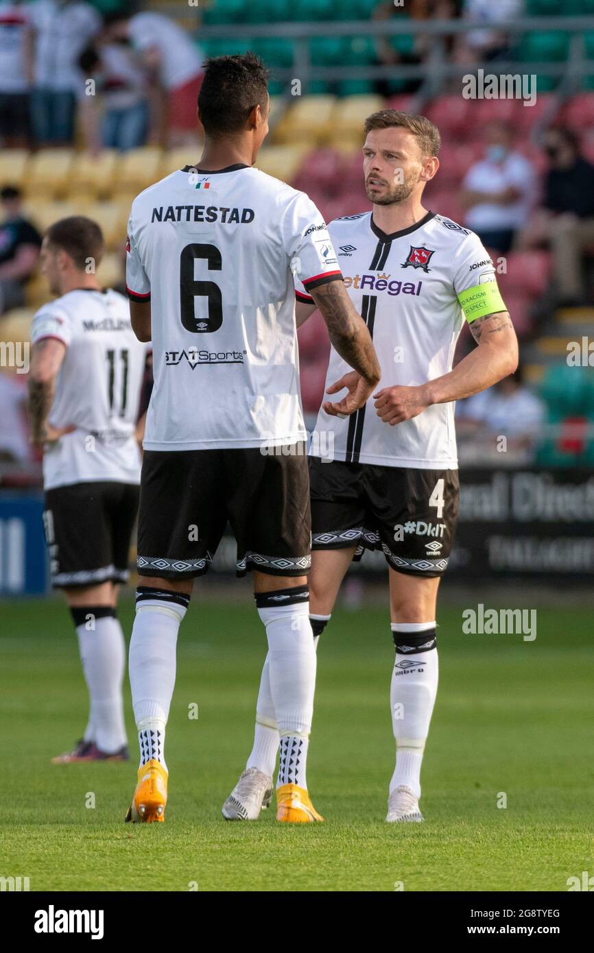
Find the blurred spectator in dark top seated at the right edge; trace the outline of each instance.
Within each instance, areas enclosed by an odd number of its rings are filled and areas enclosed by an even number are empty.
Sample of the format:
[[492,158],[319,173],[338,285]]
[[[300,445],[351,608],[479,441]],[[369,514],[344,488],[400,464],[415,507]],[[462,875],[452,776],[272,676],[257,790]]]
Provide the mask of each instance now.
[[580,154],[571,130],[549,129],[543,148],[549,159],[543,208],[533,216],[522,243],[525,248],[550,246],[557,304],[579,305],[587,300],[584,252],[594,252],[594,166]]

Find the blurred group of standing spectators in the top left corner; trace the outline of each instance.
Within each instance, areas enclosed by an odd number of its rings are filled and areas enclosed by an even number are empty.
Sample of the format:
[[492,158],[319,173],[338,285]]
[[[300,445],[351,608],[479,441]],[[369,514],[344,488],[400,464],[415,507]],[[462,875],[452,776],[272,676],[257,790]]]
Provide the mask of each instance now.
[[153,10],[101,16],[84,0],[0,2],[0,140],[91,152],[195,135],[202,57]]

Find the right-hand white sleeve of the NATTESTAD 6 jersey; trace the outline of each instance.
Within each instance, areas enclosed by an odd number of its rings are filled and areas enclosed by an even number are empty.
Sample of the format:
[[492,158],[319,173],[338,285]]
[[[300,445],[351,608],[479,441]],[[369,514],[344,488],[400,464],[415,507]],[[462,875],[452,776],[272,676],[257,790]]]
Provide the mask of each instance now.
[[314,288],[342,278],[326,223],[305,193],[297,193],[285,212],[283,239],[298,300],[312,301]]

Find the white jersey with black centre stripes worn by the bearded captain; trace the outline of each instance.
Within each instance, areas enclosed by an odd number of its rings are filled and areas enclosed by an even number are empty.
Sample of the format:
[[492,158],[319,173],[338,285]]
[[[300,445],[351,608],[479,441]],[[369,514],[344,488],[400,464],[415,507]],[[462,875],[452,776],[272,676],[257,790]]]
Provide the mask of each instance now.
[[[416,225],[386,234],[367,212],[338,218],[328,230],[344,284],[379,357],[375,393],[447,374],[464,314],[472,321],[505,308],[479,237],[442,215],[429,212]],[[298,282],[296,294],[312,300]],[[326,387],[351,370],[332,349]],[[395,426],[379,418],[373,396],[346,419],[320,409],[311,453],[351,463],[456,469],[454,408],[454,402],[434,404]]]

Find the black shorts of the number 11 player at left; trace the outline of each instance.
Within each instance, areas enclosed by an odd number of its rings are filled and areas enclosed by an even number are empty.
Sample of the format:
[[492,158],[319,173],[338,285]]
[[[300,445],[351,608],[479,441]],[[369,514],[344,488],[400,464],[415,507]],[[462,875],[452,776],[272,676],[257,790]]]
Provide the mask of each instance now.
[[46,490],[43,521],[56,589],[125,582],[138,486],[102,480]]

